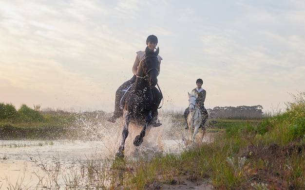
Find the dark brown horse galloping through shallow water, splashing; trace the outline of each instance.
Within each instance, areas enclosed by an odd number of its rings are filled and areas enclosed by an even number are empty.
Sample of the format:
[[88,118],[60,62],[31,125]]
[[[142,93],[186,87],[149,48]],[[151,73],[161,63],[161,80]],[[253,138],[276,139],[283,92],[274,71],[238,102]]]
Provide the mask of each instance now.
[[153,52],[147,47],[145,52],[146,56],[140,61],[137,69],[135,83],[124,95],[124,128],[122,132],[122,143],[116,153],[118,157],[124,157],[125,140],[129,133],[128,125],[132,120],[144,121],[141,133],[133,140],[135,146],[139,146],[143,142],[148,125],[152,124],[152,127],[160,125],[156,120],[162,94],[155,87],[160,71],[160,63],[157,58],[159,48]]

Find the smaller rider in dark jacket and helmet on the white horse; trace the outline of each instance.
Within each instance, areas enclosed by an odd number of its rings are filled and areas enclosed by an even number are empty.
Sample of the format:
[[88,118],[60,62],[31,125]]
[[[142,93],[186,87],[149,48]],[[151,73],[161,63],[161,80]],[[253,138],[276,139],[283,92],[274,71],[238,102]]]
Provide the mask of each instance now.
[[[200,128],[203,130],[206,130],[205,123],[207,122],[209,115],[208,115],[208,111],[206,110],[206,108],[204,106],[207,92],[205,89],[202,88],[202,84],[203,84],[202,79],[197,79],[197,81],[196,81],[197,87],[191,91],[191,94],[195,94],[195,93],[198,94],[198,98],[196,99],[196,106],[198,106],[201,110],[202,122],[200,124]],[[188,123],[187,119],[188,119],[189,112],[190,112],[189,108],[186,108],[184,111],[184,118],[185,118],[186,123]],[[188,129],[188,128],[189,128],[189,126],[187,126],[185,129]]]

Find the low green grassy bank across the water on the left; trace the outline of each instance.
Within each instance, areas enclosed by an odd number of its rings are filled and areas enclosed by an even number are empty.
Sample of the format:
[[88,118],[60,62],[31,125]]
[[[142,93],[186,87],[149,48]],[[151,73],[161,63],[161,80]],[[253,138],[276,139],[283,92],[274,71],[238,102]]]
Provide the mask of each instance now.
[[84,122],[94,124],[106,118],[106,113],[103,111],[90,113],[37,111],[35,117],[30,113],[26,112],[23,115],[0,119],[0,139],[90,139],[90,133],[80,133]]

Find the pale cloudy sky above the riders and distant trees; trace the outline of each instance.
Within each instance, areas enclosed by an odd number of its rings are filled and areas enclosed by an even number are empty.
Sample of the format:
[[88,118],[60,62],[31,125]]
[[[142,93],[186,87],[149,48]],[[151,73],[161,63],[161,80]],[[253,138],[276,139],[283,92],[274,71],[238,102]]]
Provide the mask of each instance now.
[[161,109],[285,109],[305,91],[304,0],[1,0],[0,103],[114,111],[137,51],[158,37]]

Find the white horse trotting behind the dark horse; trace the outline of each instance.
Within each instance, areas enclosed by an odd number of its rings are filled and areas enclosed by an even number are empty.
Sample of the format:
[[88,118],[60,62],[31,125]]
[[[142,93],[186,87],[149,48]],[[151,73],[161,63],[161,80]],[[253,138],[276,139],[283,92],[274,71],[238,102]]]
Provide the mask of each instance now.
[[200,124],[201,124],[201,111],[198,106],[196,106],[196,99],[198,98],[198,94],[189,94],[189,110],[190,113],[188,115],[188,125],[190,130],[194,130],[193,136],[192,136],[192,142],[195,141],[196,135],[198,133]]

